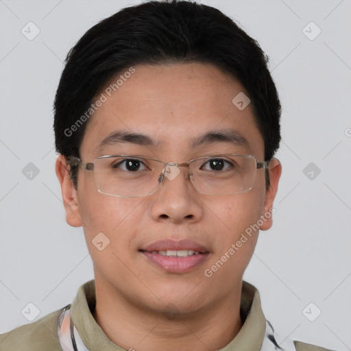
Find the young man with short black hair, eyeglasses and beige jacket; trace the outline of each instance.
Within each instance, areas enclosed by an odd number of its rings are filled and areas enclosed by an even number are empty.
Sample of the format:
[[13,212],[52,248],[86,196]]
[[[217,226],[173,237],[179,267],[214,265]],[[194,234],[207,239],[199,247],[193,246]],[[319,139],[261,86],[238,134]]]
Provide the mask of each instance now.
[[95,280],[0,349],[282,349],[243,282],[272,223],[279,119],[263,51],[215,8],[143,3],[88,30],[54,128],[66,221],[84,228]]

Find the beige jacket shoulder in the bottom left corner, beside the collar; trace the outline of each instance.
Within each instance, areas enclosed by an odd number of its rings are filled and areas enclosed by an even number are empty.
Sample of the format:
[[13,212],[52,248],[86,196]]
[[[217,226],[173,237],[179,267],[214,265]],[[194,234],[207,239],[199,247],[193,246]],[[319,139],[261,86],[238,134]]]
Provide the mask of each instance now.
[[49,313],[36,322],[25,324],[0,335],[1,351],[62,350],[57,335],[57,319],[63,308]]

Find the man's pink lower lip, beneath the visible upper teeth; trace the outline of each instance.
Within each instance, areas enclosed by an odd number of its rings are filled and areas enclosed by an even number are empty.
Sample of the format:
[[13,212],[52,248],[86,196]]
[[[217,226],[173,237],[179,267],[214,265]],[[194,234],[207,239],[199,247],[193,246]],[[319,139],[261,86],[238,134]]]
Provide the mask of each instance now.
[[208,258],[208,254],[197,254],[185,257],[165,256],[152,254],[151,252],[142,252],[150,261],[165,269],[169,273],[186,273],[201,265]]

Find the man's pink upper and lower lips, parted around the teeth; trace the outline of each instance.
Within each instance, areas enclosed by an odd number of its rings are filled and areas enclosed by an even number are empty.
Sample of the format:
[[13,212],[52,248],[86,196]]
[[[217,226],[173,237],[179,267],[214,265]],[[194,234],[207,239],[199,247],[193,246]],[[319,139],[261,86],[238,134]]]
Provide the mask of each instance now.
[[[178,256],[164,256],[161,254],[152,253],[154,251],[166,250],[193,250],[200,252],[200,254],[178,257]],[[156,266],[169,273],[182,274],[195,269],[208,259],[209,250],[195,241],[183,239],[180,241],[173,241],[170,239],[159,240],[143,247],[139,250],[148,261],[151,261]]]

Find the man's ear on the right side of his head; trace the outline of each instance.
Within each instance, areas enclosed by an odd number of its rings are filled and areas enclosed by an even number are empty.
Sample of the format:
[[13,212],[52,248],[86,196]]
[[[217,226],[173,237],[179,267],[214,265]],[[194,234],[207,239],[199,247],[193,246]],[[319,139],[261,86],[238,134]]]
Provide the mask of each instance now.
[[268,171],[270,186],[266,191],[265,204],[263,205],[263,212],[261,214],[265,218],[263,218],[263,224],[260,226],[260,230],[267,230],[271,228],[273,224],[272,214],[275,213],[273,203],[278,191],[280,174],[282,173],[280,161],[276,158],[272,158],[271,162],[269,162]]

